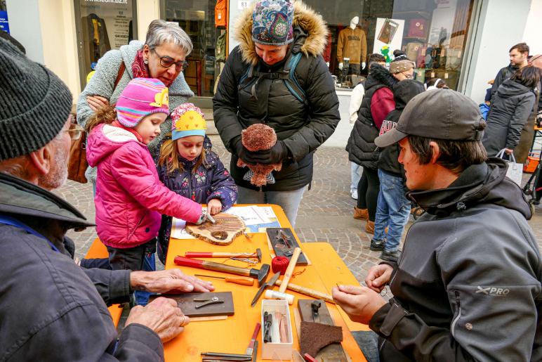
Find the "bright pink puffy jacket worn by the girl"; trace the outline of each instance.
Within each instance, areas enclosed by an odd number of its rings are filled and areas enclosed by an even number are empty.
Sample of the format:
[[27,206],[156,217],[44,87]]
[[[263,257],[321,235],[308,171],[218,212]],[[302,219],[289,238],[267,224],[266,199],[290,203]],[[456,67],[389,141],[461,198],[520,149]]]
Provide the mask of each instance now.
[[100,124],[88,135],[86,158],[98,166],[96,231],[110,247],[136,247],[158,235],[161,215],[195,222],[201,205],[159,181],[144,143],[126,129]]

